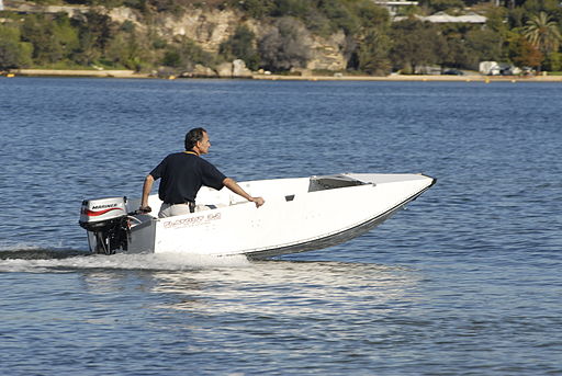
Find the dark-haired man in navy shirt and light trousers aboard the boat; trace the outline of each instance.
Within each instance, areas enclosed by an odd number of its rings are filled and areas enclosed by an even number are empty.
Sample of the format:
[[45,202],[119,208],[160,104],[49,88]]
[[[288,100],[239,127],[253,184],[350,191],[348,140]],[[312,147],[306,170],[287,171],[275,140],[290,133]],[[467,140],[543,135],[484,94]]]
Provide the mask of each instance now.
[[226,186],[234,193],[256,204],[263,205],[261,197],[252,197],[231,178],[226,178],[212,163],[201,158],[206,155],[211,141],[204,128],[194,128],[186,135],[186,151],[166,157],[146,176],[143,186],[140,212],[149,213],[148,195],[155,180],[162,179],[158,196],[162,201],[158,217],[165,218],[195,210],[195,196],[202,185],[221,190]]

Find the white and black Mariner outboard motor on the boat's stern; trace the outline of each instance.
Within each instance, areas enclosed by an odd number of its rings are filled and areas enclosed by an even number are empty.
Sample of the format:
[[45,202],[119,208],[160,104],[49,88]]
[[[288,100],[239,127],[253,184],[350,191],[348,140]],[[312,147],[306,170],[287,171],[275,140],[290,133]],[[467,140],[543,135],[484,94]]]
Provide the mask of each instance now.
[[127,250],[128,220],[126,197],[85,200],[79,224],[88,231],[90,251],[114,254]]

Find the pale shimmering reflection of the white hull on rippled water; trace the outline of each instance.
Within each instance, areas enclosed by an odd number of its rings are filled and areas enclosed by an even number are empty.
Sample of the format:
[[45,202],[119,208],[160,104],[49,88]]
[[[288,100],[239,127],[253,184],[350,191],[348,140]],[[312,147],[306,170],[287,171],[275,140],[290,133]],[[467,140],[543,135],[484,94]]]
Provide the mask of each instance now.
[[387,312],[408,304],[420,275],[400,267],[342,262],[252,262],[246,267],[157,272],[160,308],[198,315],[272,316]]

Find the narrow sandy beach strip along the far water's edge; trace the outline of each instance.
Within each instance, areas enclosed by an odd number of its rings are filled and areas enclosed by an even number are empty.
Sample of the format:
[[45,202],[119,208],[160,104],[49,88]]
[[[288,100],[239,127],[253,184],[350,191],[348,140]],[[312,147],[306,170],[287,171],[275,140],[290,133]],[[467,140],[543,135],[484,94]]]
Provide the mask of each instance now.
[[[155,77],[148,73],[137,73],[133,70],[88,70],[88,69],[13,69],[8,72],[9,77],[98,77],[98,78],[139,78],[147,79]],[[236,78],[236,77],[235,77]],[[166,78],[165,78],[166,79]],[[169,77],[168,79],[176,79]],[[228,79],[228,78],[212,78]],[[507,81],[507,82],[562,82],[562,76],[436,76],[436,75],[391,75],[391,76],[282,76],[282,75],[252,75],[240,77],[240,79],[269,80],[269,81]]]

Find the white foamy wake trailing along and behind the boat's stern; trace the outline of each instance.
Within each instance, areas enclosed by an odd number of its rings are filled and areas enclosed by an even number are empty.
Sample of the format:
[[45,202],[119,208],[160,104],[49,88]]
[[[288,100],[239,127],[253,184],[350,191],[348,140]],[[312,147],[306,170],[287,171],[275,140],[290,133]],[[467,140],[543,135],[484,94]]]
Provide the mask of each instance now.
[[189,271],[213,267],[245,267],[245,255],[114,254],[100,255],[79,250],[45,248],[0,250],[0,273],[69,273],[80,270]]

